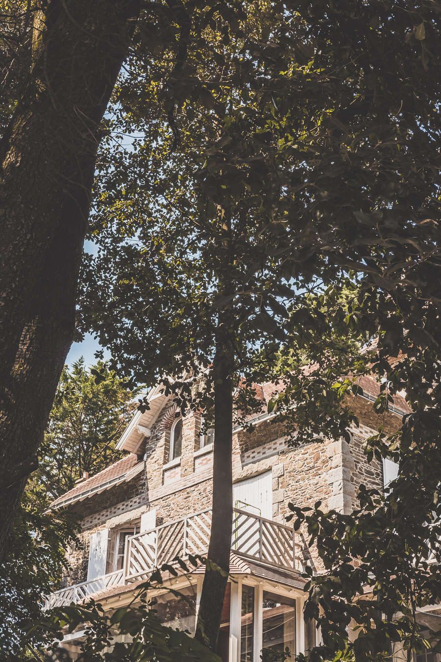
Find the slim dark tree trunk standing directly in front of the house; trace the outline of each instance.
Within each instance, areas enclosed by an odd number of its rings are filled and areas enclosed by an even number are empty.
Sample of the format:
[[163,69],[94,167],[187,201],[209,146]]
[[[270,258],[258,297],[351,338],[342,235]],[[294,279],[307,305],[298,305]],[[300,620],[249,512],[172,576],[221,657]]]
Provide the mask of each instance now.
[[233,524],[233,370],[234,354],[231,344],[229,315],[220,313],[214,357],[214,448],[212,531],[208,545],[208,559],[225,574],[206,568],[196,638],[216,651],[221,623],[223,600],[229,573],[231,528]]

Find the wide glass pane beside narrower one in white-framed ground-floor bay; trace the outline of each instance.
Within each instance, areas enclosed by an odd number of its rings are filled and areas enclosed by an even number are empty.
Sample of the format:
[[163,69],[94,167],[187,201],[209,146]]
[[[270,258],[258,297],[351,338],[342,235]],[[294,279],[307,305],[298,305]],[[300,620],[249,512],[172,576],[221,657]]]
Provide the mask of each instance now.
[[296,633],[296,600],[263,592],[262,661],[284,659],[288,648],[294,655]]

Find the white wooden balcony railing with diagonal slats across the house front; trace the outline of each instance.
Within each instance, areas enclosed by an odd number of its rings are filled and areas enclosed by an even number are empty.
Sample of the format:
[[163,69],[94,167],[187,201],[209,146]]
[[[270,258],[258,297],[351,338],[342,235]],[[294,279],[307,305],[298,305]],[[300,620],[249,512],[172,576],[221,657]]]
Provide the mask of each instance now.
[[[128,538],[122,570],[56,591],[46,599],[45,608],[80,602],[112,587],[147,579],[153,569],[173,563],[177,556],[185,560],[188,554],[206,554],[211,525],[212,511],[203,510]],[[300,571],[300,547],[292,527],[233,508],[231,549],[239,556]]]

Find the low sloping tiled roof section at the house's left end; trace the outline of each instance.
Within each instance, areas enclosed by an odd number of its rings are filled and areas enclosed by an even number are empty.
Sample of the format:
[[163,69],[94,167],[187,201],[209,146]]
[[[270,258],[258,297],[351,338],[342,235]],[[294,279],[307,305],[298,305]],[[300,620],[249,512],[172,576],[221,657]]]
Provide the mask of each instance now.
[[81,481],[81,483],[75,485],[69,492],[56,498],[50,504],[50,508],[52,510],[63,508],[63,506],[67,506],[75,501],[82,501],[88,496],[100,493],[108,487],[118,485],[123,481],[130,481],[140,473],[143,465],[143,461],[138,460],[137,455],[130,453],[130,455],[126,455],[126,457],[107,467],[107,469],[103,469],[95,476]]

